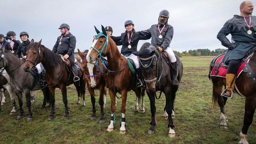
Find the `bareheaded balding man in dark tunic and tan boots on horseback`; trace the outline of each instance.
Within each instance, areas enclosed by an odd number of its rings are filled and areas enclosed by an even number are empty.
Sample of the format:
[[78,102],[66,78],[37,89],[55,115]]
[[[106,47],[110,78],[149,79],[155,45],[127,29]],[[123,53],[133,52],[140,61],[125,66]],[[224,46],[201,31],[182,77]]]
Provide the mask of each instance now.
[[[228,64],[226,74],[226,89],[222,96],[232,98],[236,81],[236,72],[241,60],[256,45],[256,16],[251,16],[253,3],[244,1],[240,5],[240,16],[234,15],[220,29],[217,38],[221,45],[228,48],[223,62]],[[226,37],[232,36],[232,43]]]

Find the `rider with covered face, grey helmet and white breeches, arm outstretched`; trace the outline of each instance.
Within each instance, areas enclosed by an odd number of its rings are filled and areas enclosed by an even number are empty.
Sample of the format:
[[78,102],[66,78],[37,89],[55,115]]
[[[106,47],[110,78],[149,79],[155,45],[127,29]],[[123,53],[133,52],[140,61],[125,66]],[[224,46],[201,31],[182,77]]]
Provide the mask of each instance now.
[[162,10],[159,13],[158,24],[151,26],[147,30],[139,31],[140,35],[150,36],[151,37],[151,45],[157,47],[157,49],[161,51],[165,51],[168,53],[170,57],[171,70],[173,72],[173,85],[178,85],[179,81],[177,80],[177,63],[176,57],[173,50],[169,47],[170,43],[174,36],[174,28],[169,25],[168,18],[170,17],[170,13],[167,10]]

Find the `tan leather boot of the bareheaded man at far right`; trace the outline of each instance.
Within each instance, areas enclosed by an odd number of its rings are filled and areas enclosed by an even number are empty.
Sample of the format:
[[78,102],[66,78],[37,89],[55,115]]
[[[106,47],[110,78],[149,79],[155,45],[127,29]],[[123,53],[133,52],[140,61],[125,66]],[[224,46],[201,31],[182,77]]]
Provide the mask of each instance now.
[[236,84],[236,75],[232,73],[227,73],[226,74],[226,92],[223,93],[221,96],[232,99],[233,91],[235,89],[235,84]]

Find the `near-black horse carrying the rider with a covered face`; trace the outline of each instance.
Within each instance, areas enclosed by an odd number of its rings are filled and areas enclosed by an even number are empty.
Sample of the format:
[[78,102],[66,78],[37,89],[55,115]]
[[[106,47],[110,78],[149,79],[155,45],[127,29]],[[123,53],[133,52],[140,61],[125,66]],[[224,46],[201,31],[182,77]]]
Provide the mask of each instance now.
[[[162,55],[163,52],[159,52],[150,43],[145,43],[142,45],[138,52],[133,54],[138,56],[139,65],[142,70],[144,81],[146,82],[146,93],[150,100],[150,110],[151,110],[151,122],[148,134],[155,133],[155,98],[159,99],[161,93],[165,93],[165,110],[168,114],[168,127],[169,127],[169,137],[175,136],[174,122],[172,118],[172,112],[174,111],[174,99],[178,86],[172,84],[172,72],[170,67]],[[178,76],[177,79],[180,82],[183,75],[183,64],[177,55]],[[170,63],[169,63],[170,64]],[[156,97],[156,91],[161,91],[159,98]]]

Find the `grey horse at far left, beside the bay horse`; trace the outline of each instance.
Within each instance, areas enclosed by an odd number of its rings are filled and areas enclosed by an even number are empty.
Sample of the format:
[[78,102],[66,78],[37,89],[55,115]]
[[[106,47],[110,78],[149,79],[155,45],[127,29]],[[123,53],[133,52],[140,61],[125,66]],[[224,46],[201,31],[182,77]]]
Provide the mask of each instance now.
[[23,70],[23,61],[16,57],[14,54],[11,54],[9,51],[5,49],[0,49],[0,68],[5,68],[6,72],[9,75],[9,82],[14,90],[14,93],[18,96],[19,103],[19,114],[16,119],[21,119],[25,113],[23,109],[23,101],[22,101],[22,92],[25,93],[27,108],[28,108],[28,118],[27,121],[31,121],[32,111],[31,111],[31,90],[42,90],[44,92],[44,96],[48,97],[47,89],[43,87],[37,87],[37,79],[31,75],[30,73],[24,72]]

